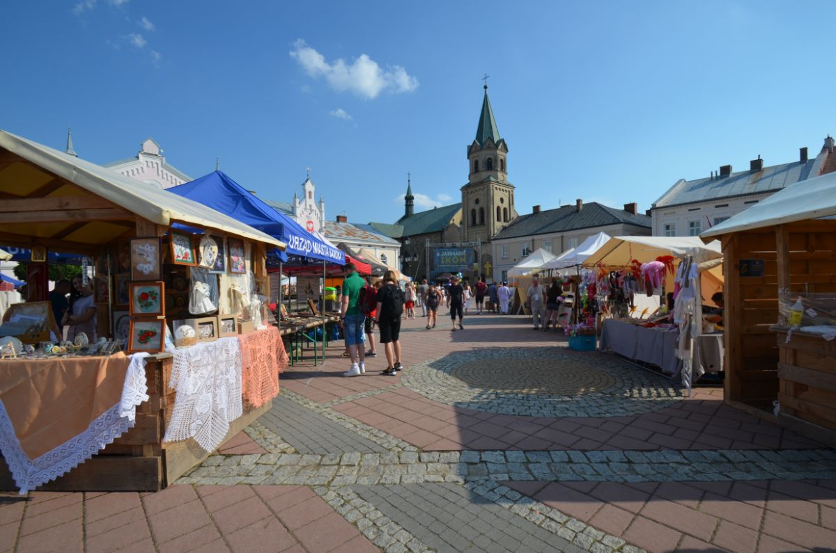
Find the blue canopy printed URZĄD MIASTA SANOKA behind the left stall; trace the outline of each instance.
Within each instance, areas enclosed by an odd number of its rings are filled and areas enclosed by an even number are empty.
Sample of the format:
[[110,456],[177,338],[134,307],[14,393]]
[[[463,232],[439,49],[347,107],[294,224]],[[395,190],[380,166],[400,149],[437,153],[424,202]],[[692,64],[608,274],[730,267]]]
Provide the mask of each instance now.
[[345,254],[342,251],[318,240],[292,218],[259,200],[222,171],[213,171],[185,185],[167,190],[198,201],[285,242],[288,245],[287,251],[276,252],[285,261],[286,255],[290,255],[345,265]]

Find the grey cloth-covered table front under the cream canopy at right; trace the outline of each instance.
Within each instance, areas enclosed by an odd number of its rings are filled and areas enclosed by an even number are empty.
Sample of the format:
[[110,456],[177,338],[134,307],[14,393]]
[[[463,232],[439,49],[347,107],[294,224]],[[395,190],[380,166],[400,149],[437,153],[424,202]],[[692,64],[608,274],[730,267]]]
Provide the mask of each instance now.
[[650,363],[662,369],[662,373],[675,375],[680,369],[676,358],[679,332],[660,328],[640,327],[630,322],[605,319],[601,328],[600,349]]

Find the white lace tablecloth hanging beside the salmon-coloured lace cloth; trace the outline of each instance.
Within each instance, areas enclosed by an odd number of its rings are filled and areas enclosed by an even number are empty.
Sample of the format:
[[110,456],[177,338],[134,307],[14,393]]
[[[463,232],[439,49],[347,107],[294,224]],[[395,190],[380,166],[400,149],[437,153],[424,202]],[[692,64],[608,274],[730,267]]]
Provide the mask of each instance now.
[[206,451],[217,449],[243,413],[237,337],[176,349],[169,387],[177,395],[164,441],[193,438]]

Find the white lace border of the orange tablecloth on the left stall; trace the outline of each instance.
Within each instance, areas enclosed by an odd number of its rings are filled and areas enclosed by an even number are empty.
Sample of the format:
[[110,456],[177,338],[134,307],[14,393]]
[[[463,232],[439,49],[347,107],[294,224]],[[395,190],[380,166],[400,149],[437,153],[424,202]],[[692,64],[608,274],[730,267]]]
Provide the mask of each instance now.
[[[147,353],[135,353],[131,356],[125,373],[125,382],[122,385],[121,397],[117,403],[93,419],[83,432],[34,459],[30,459],[23,450],[6,405],[0,401],[0,449],[3,450],[3,458],[6,459],[8,469],[21,495],[68,473],[97,454],[99,449],[104,449],[107,444],[111,444],[134,427],[136,406],[148,400],[148,387],[145,381],[147,356]],[[22,361],[22,363],[26,362]],[[38,388],[37,378],[33,380],[32,386]],[[40,392],[32,388],[26,391],[36,394]],[[22,390],[21,393],[26,391]],[[92,395],[94,390],[90,389],[89,393]],[[84,400],[89,401],[89,398],[84,398]],[[60,423],[60,421],[57,422]],[[17,424],[21,424],[21,421],[17,421]]]

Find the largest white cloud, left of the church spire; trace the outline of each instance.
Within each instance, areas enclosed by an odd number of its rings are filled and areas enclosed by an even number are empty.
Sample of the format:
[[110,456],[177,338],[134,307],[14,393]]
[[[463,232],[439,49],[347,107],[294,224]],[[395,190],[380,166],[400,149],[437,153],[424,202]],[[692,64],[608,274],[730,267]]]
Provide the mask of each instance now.
[[364,53],[350,64],[342,58],[328,63],[321,53],[299,38],[293,43],[290,57],[296,59],[311,78],[324,77],[332,89],[347,90],[365,99],[375,99],[383,91],[397,94],[418,88],[418,79],[407,74],[405,68],[393,65],[385,71]]

